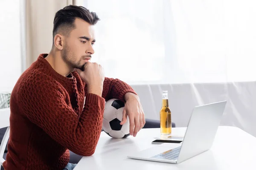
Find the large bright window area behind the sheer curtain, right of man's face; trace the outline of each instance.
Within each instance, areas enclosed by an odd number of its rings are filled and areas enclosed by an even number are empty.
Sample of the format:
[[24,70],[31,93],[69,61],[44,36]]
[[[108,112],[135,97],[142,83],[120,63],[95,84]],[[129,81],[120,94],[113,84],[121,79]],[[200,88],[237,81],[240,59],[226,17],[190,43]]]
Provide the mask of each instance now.
[[101,19],[93,61],[130,84],[255,81],[255,5],[84,0]]

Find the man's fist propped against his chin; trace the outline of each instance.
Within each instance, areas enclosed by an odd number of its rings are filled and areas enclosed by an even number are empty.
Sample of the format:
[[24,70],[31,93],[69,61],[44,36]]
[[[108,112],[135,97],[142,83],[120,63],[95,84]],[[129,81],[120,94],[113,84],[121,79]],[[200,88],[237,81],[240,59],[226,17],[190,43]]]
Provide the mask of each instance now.
[[96,62],[87,62],[84,65],[84,71],[74,68],[81,79],[87,84],[87,92],[102,96],[103,82],[105,79],[104,71],[101,65]]

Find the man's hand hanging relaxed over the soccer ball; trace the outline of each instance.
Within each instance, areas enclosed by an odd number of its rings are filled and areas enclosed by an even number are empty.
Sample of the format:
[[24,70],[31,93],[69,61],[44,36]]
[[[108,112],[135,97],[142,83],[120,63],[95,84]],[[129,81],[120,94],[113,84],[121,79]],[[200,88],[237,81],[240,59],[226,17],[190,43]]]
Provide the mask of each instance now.
[[125,101],[125,108],[123,110],[123,117],[120,125],[125,124],[127,116],[129,116],[130,135],[135,137],[138,131],[145,125],[143,108],[140,104],[139,97],[133,93],[125,94]]

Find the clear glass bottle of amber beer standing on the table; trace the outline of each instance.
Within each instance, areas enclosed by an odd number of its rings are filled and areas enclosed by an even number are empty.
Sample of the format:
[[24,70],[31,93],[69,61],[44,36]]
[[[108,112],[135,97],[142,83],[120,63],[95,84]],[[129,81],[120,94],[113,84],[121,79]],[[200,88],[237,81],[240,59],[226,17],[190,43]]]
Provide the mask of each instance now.
[[161,135],[169,135],[172,133],[172,119],[168,103],[168,91],[163,91],[162,108],[160,110],[160,130]]

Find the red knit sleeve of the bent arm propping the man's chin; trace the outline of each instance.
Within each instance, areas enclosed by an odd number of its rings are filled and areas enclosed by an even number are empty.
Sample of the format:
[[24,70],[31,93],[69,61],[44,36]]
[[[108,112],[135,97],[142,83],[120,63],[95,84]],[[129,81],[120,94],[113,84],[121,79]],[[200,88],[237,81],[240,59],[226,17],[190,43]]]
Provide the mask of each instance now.
[[31,79],[18,91],[18,102],[24,106],[20,108],[24,116],[74,153],[92,155],[102,129],[105,99],[87,94],[79,116],[61,85],[47,78],[44,83],[37,80]]

